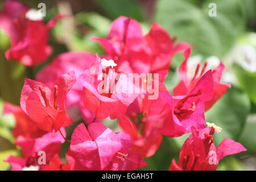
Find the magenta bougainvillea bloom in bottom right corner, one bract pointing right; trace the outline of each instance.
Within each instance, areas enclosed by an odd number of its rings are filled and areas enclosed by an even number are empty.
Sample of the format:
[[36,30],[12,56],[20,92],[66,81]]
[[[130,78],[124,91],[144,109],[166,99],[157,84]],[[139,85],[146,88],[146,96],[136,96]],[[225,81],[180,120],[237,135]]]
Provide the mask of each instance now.
[[[212,125],[209,125],[212,126]],[[213,125],[215,127],[215,125]],[[219,160],[226,155],[246,151],[241,143],[225,138],[216,148],[213,144],[214,131],[220,127],[201,130],[192,128],[192,135],[185,140],[180,150],[179,163],[172,160],[169,170],[211,171],[216,170]]]

